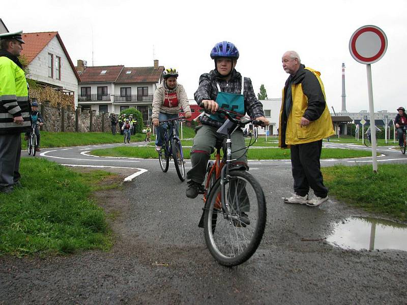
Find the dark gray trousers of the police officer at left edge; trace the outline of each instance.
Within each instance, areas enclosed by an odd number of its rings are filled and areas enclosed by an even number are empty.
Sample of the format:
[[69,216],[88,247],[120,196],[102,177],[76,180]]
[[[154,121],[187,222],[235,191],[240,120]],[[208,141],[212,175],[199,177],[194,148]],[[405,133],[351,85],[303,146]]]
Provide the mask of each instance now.
[[0,188],[13,186],[21,177],[21,135],[0,135]]

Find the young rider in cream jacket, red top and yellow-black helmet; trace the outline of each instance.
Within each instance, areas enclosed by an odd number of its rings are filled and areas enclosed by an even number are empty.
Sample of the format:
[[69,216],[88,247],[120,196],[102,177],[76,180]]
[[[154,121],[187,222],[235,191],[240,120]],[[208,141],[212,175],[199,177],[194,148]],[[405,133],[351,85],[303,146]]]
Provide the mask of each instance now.
[[[179,117],[181,107],[186,118],[192,116],[185,89],[183,85],[177,83],[177,70],[174,68],[166,69],[162,76],[163,80],[154,93],[153,114],[151,116],[154,126],[157,127],[157,151],[161,150],[164,143],[164,130],[167,128],[166,124],[160,126],[160,121]],[[176,133],[178,135],[178,121],[176,121]],[[172,137],[172,131],[169,137]]]

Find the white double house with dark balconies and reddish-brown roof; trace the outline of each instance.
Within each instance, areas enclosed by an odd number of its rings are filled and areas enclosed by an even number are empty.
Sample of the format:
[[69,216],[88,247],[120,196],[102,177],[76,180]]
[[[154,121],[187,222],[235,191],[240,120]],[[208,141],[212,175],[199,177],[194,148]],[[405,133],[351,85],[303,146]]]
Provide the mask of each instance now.
[[144,120],[149,119],[154,92],[164,70],[158,60],[154,60],[153,67],[87,67],[83,60],[78,60],[76,69],[81,79],[79,107],[116,114],[134,107]]

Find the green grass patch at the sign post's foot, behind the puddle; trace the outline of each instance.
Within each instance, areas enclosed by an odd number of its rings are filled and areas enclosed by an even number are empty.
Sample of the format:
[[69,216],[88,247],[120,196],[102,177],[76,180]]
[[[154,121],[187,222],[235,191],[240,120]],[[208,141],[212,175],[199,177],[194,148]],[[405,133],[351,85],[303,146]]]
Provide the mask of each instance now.
[[[330,195],[352,206],[407,221],[406,164],[322,168]],[[363,181],[363,183],[362,183]]]

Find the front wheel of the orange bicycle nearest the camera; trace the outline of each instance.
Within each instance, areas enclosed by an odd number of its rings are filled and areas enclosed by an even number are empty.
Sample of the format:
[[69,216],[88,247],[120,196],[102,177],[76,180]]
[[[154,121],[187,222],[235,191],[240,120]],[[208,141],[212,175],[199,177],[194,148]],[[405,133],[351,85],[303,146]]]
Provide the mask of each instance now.
[[[225,219],[223,210],[215,207],[216,200],[221,192],[220,179],[218,179],[205,204],[204,233],[205,242],[211,255],[221,265],[237,266],[247,261],[257,250],[261,238],[263,238],[267,210],[263,190],[251,174],[246,171],[234,170],[229,172],[229,175],[230,179],[225,185],[228,203],[232,199],[229,207],[232,210],[234,209],[233,198],[238,199],[238,201],[249,199],[250,211],[247,211],[247,218],[250,217],[250,222],[244,224],[241,218]],[[232,187],[232,184],[235,187]],[[237,190],[240,190],[239,194]],[[240,204],[236,204],[236,206],[238,205]],[[239,213],[240,208],[237,207],[235,212]],[[217,214],[222,215],[218,217]],[[242,236],[243,240],[239,240],[239,235]],[[236,240],[232,240],[231,236]],[[230,238],[229,241],[228,238]],[[230,242],[229,245],[227,245],[228,242]]]

